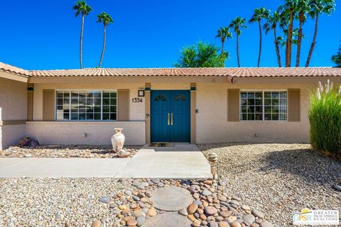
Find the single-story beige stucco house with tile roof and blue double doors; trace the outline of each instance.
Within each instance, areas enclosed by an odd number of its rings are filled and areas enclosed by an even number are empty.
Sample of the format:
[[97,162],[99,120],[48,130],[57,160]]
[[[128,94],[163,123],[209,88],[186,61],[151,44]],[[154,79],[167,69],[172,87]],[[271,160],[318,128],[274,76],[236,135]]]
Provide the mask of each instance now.
[[41,144],[308,143],[309,94],[341,69],[23,70],[0,62],[0,150]]

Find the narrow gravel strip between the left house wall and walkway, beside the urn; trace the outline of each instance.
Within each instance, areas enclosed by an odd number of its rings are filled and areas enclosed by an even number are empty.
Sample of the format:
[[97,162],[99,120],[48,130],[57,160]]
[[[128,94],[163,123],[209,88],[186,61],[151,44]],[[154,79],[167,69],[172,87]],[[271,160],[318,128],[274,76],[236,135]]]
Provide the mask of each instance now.
[[[133,156],[140,147],[125,147],[124,150]],[[118,157],[109,146],[87,145],[38,145],[35,148],[10,147],[0,150],[0,157]]]

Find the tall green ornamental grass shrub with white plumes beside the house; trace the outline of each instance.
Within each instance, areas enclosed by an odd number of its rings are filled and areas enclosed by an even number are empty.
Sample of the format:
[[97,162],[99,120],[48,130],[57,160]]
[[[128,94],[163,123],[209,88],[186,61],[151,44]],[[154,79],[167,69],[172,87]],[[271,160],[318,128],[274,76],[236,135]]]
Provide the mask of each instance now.
[[341,86],[319,82],[310,95],[310,143],[313,148],[341,157]]

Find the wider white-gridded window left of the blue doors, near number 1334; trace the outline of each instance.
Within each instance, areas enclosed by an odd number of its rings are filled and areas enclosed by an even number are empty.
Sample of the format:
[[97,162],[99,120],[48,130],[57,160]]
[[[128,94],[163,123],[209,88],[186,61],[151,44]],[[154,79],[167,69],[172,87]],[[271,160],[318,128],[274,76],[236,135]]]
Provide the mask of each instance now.
[[57,91],[56,120],[117,120],[116,91]]

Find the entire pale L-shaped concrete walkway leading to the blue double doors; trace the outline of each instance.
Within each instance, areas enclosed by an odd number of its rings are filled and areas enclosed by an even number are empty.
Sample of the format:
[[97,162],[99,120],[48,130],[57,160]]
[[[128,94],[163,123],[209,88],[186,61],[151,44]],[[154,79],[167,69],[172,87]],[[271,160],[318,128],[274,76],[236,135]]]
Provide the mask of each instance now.
[[196,145],[144,146],[132,158],[0,158],[0,177],[208,178]]

